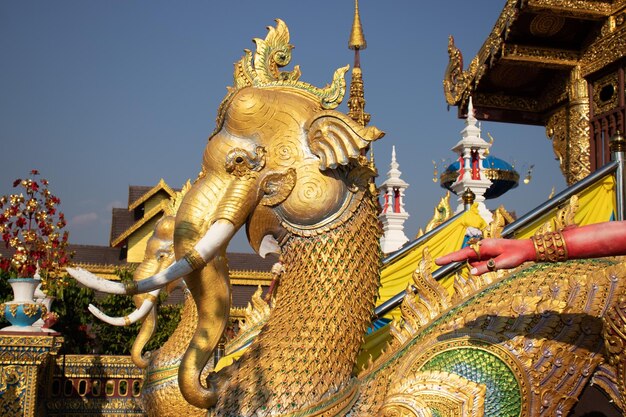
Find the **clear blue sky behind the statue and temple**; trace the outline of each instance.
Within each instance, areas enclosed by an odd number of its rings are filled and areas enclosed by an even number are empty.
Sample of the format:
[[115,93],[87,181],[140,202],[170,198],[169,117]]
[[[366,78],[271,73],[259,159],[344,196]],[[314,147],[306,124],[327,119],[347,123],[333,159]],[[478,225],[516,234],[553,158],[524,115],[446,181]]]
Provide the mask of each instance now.
[[[444,190],[433,163],[450,162],[462,120],[447,110],[442,79],[448,35],[468,63],[504,1],[361,0],[368,42],[361,63],[384,181],[391,146],[406,192],[407,235],[430,217]],[[160,178],[179,187],[200,170],[232,64],[275,18],[289,26],[292,64],[317,86],[352,63],[352,0],[29,1],[0,4],[0,194],[39,169],[69,220],[72,243],[108,244],[111,208],[129,185]],[[345,103],[340,107],[346,111]],[[542,127],[483,123],[492,153],[533,181],[487,203],[518,214],[564,188]],[[249,251],[242,239],[234,251]]]

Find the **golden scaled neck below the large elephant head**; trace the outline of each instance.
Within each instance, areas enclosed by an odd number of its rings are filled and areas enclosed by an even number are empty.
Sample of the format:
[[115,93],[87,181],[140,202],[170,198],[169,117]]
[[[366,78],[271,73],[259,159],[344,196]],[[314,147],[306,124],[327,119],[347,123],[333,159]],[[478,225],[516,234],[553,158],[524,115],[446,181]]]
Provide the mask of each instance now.
[[[335,392],[340,404],[351,403],[352,364],[378,290],[380,253],[372,248],[379,236],[376,206],[366,196],[341,227],[290,238],[283,247],[276,307],[243,357],[220,371],[230,374],[219,377],[229,380],[220,389],[229,394],[220,398],[214,415],[323,409],[320,398]],[[311,415],[325,414],[311,410]]]

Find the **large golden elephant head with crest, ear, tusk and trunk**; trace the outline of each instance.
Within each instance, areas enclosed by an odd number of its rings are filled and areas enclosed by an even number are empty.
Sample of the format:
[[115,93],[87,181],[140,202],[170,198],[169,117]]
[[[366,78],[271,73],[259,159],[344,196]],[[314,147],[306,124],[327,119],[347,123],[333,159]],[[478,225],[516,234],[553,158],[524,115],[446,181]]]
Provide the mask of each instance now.
[[[345,224],[366,200],[367,224],[378,227],[372,199],[366,198],[371,197],[369,182],[375,172],[363,155],[383,133],[333,110],[345,93],[348,67],[337,70],[323,89],[299,81],[297,66],[291,72],[279,70],[291,58],[286,25],[277,20],[276,27],[268,29],[264,40],[255,39],[256,53],[246,51],[235,64],[234,86],[220,105],[202,172],[178,209],[177,261],[132,285],[70,270],[92,288],[118,294],[152,291],[185,277],[199,319],[180,366],[179,385],[186,400],[201,408],[214,405],[225,386],[221,380],[205,385],[200,374],[227,324],[230,288],[225,254],[236,231],[245,225],[251,246],[264,255],[284,250],[294,236],[317,238]],[[377,236],[372,233],[372,245]],[[376,275],[379,252],[373,253],[368,270]],[[366,286],[372,296],[376,285]],[[369,319],[370,304],[373,298],[360,313],[363,323]],[[363,330],[364,326],[359,324]],[[358,340],[353,344],[355,356]],[[346,366],[348,374],[351,366]]]

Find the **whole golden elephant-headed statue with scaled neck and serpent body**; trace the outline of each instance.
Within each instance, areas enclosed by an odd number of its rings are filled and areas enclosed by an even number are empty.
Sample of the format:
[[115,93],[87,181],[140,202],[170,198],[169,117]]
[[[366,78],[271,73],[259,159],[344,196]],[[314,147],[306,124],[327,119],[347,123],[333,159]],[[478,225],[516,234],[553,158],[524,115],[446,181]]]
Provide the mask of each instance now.
[[[619,259],[459,276],[450,295],[426,254],[393,341],[356,370],[381,265],[375,171],[363,155],[383,134],[333,110],[347,67],[315,88],[298,67],[280,70],[292,49],[282,21],[255,42],[235,64],[202,172],[177,210],[176,262],[130,285],[70,270],[129,295],[184,277],[197,326],[181,323],[167,342],[189,340],[177,345],[182,359],[165,347],[156,355],[178,361],[171,369],[186,403],[157,401],[153,390],[150,414],[194,415],[191,405],[229,417],[565,416],[589,382],[626,409]],[[226,246],[244,224],[254,250],[280,253],[284,271],[259,335],[238,361],[206,375],[228,321]]]

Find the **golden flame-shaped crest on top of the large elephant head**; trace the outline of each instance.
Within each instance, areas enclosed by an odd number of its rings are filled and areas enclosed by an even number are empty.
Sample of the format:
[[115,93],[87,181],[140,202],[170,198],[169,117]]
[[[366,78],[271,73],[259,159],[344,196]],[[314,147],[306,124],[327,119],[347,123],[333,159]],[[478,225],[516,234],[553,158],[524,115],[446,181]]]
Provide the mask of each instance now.
[[324,88],[299,81],[301,73],[298,65],[292,71],[280,71],[280,68],[291,61],[293,45],[289,44],[289,28],[285,22],[276,19],[276,27],[268,26],[267,30],[265,39],[254,39],[254,55],[252,51],[245,49],[245,55],[235,63],[233,86],[228,87],[228,94],[220,104],[216,132],[222,126],[230,100],[237,91],[245,87],[292,90],[319,101],[323,109],[334,109],[341,104],[346,92],[344,75],[350,66],[337,69],[332,82]]

